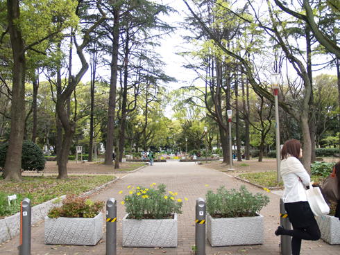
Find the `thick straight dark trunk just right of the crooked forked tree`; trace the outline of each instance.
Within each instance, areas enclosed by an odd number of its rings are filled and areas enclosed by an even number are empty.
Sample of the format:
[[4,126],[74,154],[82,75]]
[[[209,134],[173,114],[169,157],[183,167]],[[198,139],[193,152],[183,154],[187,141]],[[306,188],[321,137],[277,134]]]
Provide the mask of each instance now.
[[[108,108],[108,132],[107,132],[108,134],[106,137],[105,161],[104,161],[104,164],[107,166],[112,166],[112,152],[113,152],[113,139],[114,139],[114,115],[116,111],[117,73],[118,73],[119,12],[120,12],[120,9],[116,9],[113,12],[114,28],[112,32],[113,42],[112,42],[109,108]],[[117,155],[117,152],[116,152],[116,155]],[[118,157],[118,155],[116,157]]]

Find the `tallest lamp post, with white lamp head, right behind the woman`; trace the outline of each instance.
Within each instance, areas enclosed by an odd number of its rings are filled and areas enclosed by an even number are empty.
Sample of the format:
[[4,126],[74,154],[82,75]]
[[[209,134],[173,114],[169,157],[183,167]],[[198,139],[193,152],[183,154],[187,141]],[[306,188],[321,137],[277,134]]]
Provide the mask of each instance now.
[[280,175],[280,121],[279,121],[279,81],[280,73],[271,74],[271,85],[273,86],[274,96],[275,96],[275,137],[276,137],[276,181],[281,182]]

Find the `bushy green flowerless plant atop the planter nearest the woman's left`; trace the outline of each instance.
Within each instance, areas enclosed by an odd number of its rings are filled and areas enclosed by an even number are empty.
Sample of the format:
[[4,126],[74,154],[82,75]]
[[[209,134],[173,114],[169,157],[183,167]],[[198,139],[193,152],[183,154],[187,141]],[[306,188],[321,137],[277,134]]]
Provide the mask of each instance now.
[[269,203],[269,197],[262,193],[250,193],[242,185],[239,191],[230,191],[221,186],[216,193],[207,191],[206,209],[212,218],[253,217]]

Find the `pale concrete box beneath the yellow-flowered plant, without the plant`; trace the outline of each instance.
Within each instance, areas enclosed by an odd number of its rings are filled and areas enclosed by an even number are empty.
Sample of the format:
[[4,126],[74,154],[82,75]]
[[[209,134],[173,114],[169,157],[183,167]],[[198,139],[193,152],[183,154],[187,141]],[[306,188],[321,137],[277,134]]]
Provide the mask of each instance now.
[[177,213],[167,220],[123,218],[123,247],[177,247]]

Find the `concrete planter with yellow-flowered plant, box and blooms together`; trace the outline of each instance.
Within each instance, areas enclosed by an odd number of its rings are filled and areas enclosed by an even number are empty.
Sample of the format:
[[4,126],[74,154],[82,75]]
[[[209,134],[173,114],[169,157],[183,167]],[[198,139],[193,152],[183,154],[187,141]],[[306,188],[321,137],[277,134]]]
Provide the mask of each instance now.
[[[128,186],[130,188],[130,186]],[[177,214],[182,213],[182,200],[166,186],[151,184],[129,191],[122,204],[124,247],[177,247]]]

